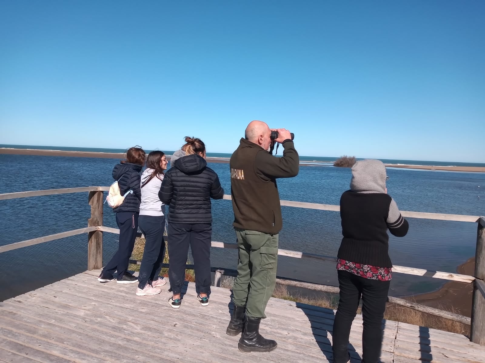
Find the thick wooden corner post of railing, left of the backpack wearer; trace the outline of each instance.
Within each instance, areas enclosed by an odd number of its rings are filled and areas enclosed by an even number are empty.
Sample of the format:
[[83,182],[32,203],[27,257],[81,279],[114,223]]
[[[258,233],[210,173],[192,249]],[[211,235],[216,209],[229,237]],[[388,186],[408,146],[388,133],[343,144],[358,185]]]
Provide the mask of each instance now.
[[[88,227],[103,225],[103,192],[89,192],[89,205],[91,218]],[[88,233],[88,270],[97,270],[103,267],[103,232]]]

